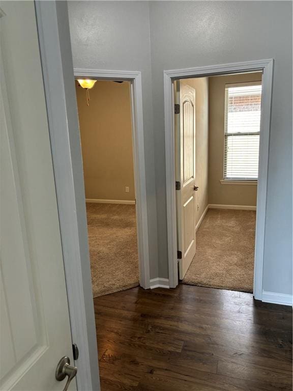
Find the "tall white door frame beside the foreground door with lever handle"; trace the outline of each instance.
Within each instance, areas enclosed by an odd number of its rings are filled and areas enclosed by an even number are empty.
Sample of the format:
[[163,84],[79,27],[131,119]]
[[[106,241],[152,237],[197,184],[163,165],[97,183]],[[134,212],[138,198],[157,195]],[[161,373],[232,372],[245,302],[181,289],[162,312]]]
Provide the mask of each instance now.
[[[77,389],[99,390],[82,158],[67,2],[35,1]],[[53,289],[53,288],[52,288]],[[64,352],[66,354],[66,352]],[[57,357],[56,357],[57,359]]]

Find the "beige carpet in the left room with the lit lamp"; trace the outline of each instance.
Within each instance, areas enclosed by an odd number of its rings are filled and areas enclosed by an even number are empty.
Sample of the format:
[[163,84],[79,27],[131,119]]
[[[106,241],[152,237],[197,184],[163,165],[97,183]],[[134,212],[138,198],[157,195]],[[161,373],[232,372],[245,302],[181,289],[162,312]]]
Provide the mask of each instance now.
[[134,205],[86,204],[93,296],[139,285]]

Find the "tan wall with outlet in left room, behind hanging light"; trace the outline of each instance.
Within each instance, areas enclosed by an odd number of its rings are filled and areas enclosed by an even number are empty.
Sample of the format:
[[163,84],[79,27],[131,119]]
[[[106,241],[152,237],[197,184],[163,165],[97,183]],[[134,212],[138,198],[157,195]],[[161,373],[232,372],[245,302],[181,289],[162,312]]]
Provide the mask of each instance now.
[[76,82],[76,96],[85,197],[134,200],[130,83],[97,81],[87,106]]

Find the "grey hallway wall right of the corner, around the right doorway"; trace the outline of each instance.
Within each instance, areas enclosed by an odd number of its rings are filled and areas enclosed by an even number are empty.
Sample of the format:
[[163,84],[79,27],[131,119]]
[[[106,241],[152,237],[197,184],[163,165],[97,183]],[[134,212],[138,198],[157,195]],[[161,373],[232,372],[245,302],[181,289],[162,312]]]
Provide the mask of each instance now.
[[292,4],[151,2],[160,277],[168,275],[163,70],[275,58],[263,289],[292,286]]

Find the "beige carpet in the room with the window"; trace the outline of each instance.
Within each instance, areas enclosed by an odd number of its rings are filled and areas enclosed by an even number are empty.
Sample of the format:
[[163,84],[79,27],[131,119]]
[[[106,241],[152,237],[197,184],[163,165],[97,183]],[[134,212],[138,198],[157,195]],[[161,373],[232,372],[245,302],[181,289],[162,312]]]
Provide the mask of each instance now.
[[183,284],[253,291],[255,212],[209,209]]

